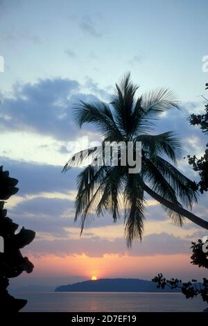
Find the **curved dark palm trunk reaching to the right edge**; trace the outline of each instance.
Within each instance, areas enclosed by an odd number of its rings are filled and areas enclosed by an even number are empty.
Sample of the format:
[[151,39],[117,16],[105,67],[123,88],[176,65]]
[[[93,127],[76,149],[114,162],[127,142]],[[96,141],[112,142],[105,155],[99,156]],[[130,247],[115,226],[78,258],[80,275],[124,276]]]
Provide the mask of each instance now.
[[182,216],[185,216],[189,218],[189,220],[193,223],[196,223],[199,225],[201,228],[204,228],[208,230],[208,222],[205,220],[202,220],[202,218],[196,216],[195,214],[187,211],[187,209],[184,209],[183,207],[179,207],[170,201],[164,199],[162,196],[159,196],[158,194],[155,193],[152,189],[150,189],[144,182],[142,182],[142,187],[146,193],[148,193],[151,197],[153,197],[155,200],[157,200],[159,203],[162,205],[168,207],[172,211],[181,214]]

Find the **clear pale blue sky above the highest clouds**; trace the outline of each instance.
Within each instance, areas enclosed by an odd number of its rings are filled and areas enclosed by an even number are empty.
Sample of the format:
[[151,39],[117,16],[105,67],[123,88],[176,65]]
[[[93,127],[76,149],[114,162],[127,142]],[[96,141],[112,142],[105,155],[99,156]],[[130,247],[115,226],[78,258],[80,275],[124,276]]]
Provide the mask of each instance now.
[[192,101],[206,82],[207,7],[194,0],[3,0],[1,89],[57,76],[112,87],[130,70],[144,89],[168,86]]

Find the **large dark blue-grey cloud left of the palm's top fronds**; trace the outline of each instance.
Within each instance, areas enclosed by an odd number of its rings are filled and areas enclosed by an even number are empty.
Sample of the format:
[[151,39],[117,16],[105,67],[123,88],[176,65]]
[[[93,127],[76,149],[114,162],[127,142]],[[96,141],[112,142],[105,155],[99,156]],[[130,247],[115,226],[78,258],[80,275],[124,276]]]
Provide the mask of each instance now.
[[55,78],[35,84],[15,85],[12,98],[1,96],[0,130],[28,130],[66,141],[78,135],[73,105],[79,100],[94,101],[79,93],[76,80]]

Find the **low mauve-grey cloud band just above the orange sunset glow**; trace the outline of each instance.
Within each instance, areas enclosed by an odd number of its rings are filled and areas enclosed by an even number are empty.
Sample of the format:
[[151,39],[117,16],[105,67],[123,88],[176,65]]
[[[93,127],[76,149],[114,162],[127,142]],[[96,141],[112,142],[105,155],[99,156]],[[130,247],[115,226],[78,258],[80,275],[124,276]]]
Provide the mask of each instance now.
[[90,239],[57,239],[54,241],[38,240],[31,243],[30,250],[34,255],[82,255],[102,257],[105,254],[118,254],[144,257],[155,255],[175,255],[175,253],[189,252],[190,241],[174,237],[171,234],[150,234],[140,243],[135,241],[132,249],[127,250],[125,240],[117,238],[112,241],[91,237]]

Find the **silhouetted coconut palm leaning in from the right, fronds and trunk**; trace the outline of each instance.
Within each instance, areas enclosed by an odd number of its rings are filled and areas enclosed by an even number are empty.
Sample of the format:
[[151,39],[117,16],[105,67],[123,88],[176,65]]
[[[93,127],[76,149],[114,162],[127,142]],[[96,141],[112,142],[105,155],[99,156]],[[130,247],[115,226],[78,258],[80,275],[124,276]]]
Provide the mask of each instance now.
[[[145,192],[162,205],[175,223],[182,225],[185,216],[208,230],[207,221],[183,207],[191,208],[198,194],[196,183],[174,166],[181,148],[180,140],[171,131],[159,135],[148,133],[162,112],[178,108],[175,94],[169,89],[157,89],[136,98],[137,89],[128,74],[120,85],[116,84],[109,105],[101,101],[80,101],[74,108],[78,126],[81,128],[84,123],[94,124],[103,136],[103,144],[104,141],[133,141],[134,144],[141,141],[142,144],[141,171],[137,174],[129,173],[128,165],[121,165],[120,155],[118,166],[89,164],[78,175],[75,221],[80,217],[81,233],[89,216],[103,215],[108,210],[114,222],[123,212],[128,246],[131,246],[133,239],[141,240]],[[89,151],[86,149],[80,155],[73,155],[63,171],[82,164],[86,157],[96,159],[96,151],[97,148],[89,148]]]

